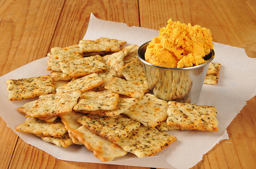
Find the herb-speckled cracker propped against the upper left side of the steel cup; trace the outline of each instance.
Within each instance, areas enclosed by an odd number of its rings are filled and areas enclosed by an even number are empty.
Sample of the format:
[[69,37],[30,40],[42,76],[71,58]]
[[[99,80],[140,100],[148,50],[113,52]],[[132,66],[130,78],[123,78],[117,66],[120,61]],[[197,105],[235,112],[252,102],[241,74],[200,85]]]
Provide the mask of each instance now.
[[146,75],[139,59],[133,59],[125,66],[121,67],[118,72],[125,77],[127,81],[138,82],[147,85]]

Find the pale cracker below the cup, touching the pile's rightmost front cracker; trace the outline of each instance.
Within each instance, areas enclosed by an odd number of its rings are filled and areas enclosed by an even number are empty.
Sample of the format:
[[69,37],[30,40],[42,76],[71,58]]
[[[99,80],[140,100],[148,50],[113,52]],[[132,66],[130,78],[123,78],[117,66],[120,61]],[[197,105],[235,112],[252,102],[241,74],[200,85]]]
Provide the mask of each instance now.
[[167,119],[167,108],[167,102],[147,93],[123,114],[141,122],[144,126],[153,128]]

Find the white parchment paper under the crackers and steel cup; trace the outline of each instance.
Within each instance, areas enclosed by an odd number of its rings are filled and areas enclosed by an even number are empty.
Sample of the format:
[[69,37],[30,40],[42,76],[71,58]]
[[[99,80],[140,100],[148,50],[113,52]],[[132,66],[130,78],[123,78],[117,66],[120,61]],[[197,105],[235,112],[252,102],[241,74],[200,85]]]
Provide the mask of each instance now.
[[[97,19],[91,14],[89,26],[84,39],[95,40],[109,37],[125,40],[128,45],[142,45],[158,36],[159,31],[142,27],[128,27],[124,23]],[[72,45],[72,44],[70,44]],[[112,162],[101,162],[84,146],[72,145],[67,148],[57,147],[44,142],[33,134],[15,131],[15,127],[25,121],[23,114],[16,111],[17,107],[33,99],[9,101],[6,80],[49,75],[46,71],[47,57],[33,61],[0,77],[0,115],[8,127],[28,144],[31,144],[57,159],[92,162],[105,164],[130,165],[140,167],[157,167],[170,169],[187,169],[193,167],[216,143],[228,139],[226,128],[233,118],[246,104],[246,100],[256,95],[256,59],[249,58],[244,49],[214,43],[215,58],[213,62],[221,63],[219,82],[217,85],[203,85],[197,104],[215,106],[218,110],[218,132],[201,131],[169,131],[177,137],[177,141],[155,157],[137,158],[128,153],[125,157]],[[36,70],[36,71],[34,71]]]

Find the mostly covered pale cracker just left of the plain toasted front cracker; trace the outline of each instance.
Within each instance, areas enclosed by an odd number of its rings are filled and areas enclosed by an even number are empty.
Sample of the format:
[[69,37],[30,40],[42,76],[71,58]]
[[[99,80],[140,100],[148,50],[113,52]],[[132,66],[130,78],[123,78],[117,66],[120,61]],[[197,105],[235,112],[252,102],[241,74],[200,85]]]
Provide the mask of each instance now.
[[69,133],[69,137],[72,139],[72,142],[74,144],[80,144],[82,145],[82,143],[80,143],[78,141],[78,139],[76,139],[72,134],[71,131],[72,130],[76,130],[79,127],[81,127],[82,125],[80,123],[77,122],[77,119],[79,117],[82,117],[84,114],[82,113],[78,113],[78,112],[70,112],[70,113],[66,113],[66,114],[60,114],[59,117],[61,118],[61,122],[65,125],[65,128],[67,129],[67,132]]

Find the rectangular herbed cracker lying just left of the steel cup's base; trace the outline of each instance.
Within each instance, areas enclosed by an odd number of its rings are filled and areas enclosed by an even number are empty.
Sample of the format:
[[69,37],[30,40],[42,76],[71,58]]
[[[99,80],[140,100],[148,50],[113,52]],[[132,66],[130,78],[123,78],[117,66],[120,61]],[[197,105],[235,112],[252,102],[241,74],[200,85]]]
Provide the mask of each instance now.
[[141,85],[138,82],[126,81],[118,77],[115,77],[105,85],[105,89],[138,99],[142,98],[144,93],[147,91],[147,87],[145,85]]

